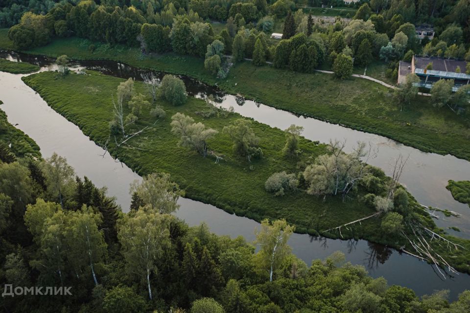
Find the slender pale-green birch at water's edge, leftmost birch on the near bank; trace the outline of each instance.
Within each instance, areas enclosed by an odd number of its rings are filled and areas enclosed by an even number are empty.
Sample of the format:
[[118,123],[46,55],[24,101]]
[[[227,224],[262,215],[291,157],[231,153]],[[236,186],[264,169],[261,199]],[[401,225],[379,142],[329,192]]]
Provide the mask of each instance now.
[[60,206],[64,207],[64,196],[71,195],[75,188],[75,171],[67,163],[67,159],[55,152],[41,162],[41,169],[46,177],[47,192],[58,197]]

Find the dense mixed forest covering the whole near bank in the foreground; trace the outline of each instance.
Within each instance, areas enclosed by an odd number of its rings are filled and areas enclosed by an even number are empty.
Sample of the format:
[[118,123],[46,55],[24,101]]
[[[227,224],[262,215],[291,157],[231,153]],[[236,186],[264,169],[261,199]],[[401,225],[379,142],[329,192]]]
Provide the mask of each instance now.
[[[131,211],[124,214],[104,189],[75,177],[64,158],[12,152],[13,157],[0,154],[0,284],[7,286],[1,304],[6,312],[470,310],[469,291],[453,303],[448,291],[420,299],[408,288],[372,279],[365,268],[345,263],[340,252],[307,266],[291,254],[287,242],[293,227],[283,220],[263,221],[256,253],[242,237],[215,236],[204,224],[188,227],[169,215],[181,192],[167,175],[133,183]],[[46,285],[67,286],[70,294],[52,296]],[[17,287],[28,291],[20,295]]]

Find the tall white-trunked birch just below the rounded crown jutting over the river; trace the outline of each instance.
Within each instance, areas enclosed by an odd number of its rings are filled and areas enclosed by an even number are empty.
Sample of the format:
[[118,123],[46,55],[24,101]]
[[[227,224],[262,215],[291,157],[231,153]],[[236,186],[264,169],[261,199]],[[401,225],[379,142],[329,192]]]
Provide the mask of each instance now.
[[127,214],[119,225],[118,239],[129,268],[144,281],[152,299],[150,276],[157,274],[157,262],[170,245],[168,215],[138,210]]

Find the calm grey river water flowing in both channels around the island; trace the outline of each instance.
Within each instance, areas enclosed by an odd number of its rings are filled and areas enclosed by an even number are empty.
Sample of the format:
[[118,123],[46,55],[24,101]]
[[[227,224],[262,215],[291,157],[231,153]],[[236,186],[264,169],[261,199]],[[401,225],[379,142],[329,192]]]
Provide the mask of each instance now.
[[[38,64],[42,67],[41,70],[56,68],[52,60],[44,57],[6,52],[0,53],[0,57]],[[141,70],[115,62],[85,61],[74,65],[74,68],[79,67],[98,69],[103,73],[123,78],[140,79],[141,74]],[[79,176],[89,177],[97,186],[107,186],[108,194],[115,196],[123,211],[127,211],[130,203],[129,183],[141,178],[125,164],[107,154],[103,156],[103,149],[96,146],[76,125],[49,108],[34,90],[21,81],[22,76],[24,75],[0,72],[0,100],[4,102],[0,109],[7,113],[10,123],[17,124],[16,127],[33,138],[41,147],[44,157],[56,152],[67,158]],[[305,128],[303,135],[306,138],[322,142],[328,142],[330,138],[347,139],[348,150],[351,150],[358,140],[370,142],[373,147],[378,147],[378,154],[369,163],[381,167],[388,174],[390,164],[396,156],[400,153],[404,156],[410,155],[401,183],[406,185],[421,203],[461,213],[460,219],[446,218],[438,220],[437,223],[442,226],[456,225],[463,230],[457,235],[467,238],[470,236],[468,206],[454,201],[445,189],[448,179],[470,178],[469,162],[453,156],[423,153],[385,137],[354,131],[312,118],[298,117],[252,101],[242,103],[235,96],[225,95],[192,79],[184,79],[190,95],[204,97],[213,94],[221,101],[223,107],[233,106],[235,112],[253,117],[273,127],[285,129],[290,124],[302,125]],[[216,234],[231,237],[241,235],[247,241],[254,240],[254,229],[259,224],[253,220],[228,214],[212,205],[189,199],[181,199],[180,204],[181,208],[176,215],[189,225],[205,222]],[[341,241],[293,234],[289,245],[307,264],[310,264],[312,259],[323,259],[334,251],[343,251],[346,253],[347,261],[365,266],[373,277],[383,276],[389,284],[411,288],[418,295],[449,289],[451,298],[455,299],[460,292],[470,289],[470,276],[467,274],[443,280],[432,266],[409,255],[402,255],[394,249],[364,240]]]

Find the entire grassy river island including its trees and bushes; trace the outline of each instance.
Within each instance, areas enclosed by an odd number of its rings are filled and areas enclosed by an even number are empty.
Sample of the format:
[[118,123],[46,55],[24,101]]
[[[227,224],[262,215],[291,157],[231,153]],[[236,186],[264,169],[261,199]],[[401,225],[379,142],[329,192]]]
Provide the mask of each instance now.
[[[206,103],[188,97],[185,104],[173,106],[156,97],[150,105],[153,99],[148,90],[152,89],[143,83],[129,85],[132,80],[124,83],[122,79],[90,73],[62,77],[43,72],[24,81],[120,161],[140,175],[169,173],[191,199],[257,221],[285,218],[296,225],[298,232],[365,238],[406,247],[408,251],[419,249],[409,238],[432,236],[430,231],[441,233],[416,201],[406,193],[395,192],[393,181],[399,177],[387,178],[381,170],[357,161],[354,154],[344,155],[339,142],[331,146],[316,144],[298,137],[295,129],[288,133],[272,129],[217,109],[214,99]],[[158,81],[156,84],[158,87]],[[124,90],[132,93],[123,101]],[[134,97],[140,99],[136,114]],[[297,140],[297,148],[286,148]],[[367,154],[366,147],[357,150],[357,156]],[[344,164],[348,170],[332,171],[334,164]],[[268,188],[266,180],[282,171],[294,175],[284,179],[281,173],[269,184],[274,187]],[[339,184],[331,185],[336,175],[333,173],[341,173],[336,178]],[[366,217],[361,223],[342,226]],[[413,233],[413,229],[420,230]],[[452,246],[454,259],[450,262],[468,271],[469,243],[450,240],[467,246]],[[433,241],[432,245],[447,255],[446,241]]]

